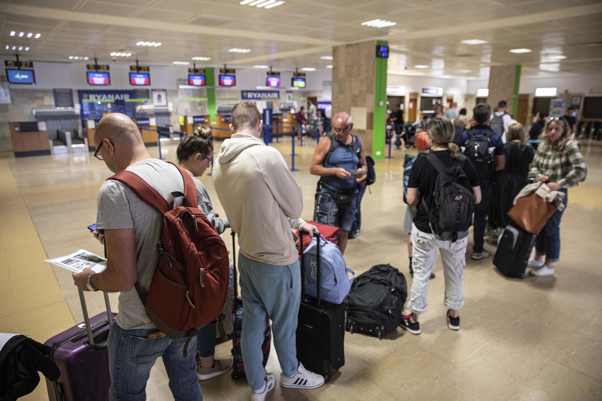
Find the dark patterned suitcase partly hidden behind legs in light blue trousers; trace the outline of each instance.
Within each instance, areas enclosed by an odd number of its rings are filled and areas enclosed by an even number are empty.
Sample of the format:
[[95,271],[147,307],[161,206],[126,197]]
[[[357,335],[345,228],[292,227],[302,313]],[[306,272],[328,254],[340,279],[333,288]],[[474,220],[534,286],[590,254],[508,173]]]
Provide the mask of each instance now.
[[[243,352],[240,349],[240,336],[243,331],[243,300],[238,296],[238,280],[236,271],[236,233],[232,231],[232,263],[234,264],[234,332],[232,333],[232,357],[234,358],[234,367],[232,367],[232,379],[240,379],[246,377],[244,373]],[[270,358],[270,346],[272,345],[272,328],[270,323],[267,324],[264,332],[264,341],[261,345],[263,352],[263,365],[267,364]]]

